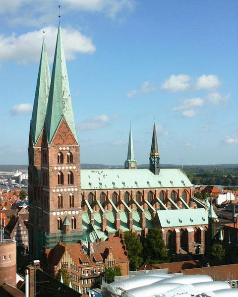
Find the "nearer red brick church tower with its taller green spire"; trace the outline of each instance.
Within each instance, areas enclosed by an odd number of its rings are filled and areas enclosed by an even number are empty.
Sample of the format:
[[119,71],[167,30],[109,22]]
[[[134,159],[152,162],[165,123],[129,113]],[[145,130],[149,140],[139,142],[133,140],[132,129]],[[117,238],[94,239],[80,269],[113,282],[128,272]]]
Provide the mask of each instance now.
[[[41,143],[40,212],[34,214],[34,257],[42,246],[82,239],[79,144],[71,105],[67,69],[58,28],[49,99]],[[36,199],[33,196],[33,200]]]

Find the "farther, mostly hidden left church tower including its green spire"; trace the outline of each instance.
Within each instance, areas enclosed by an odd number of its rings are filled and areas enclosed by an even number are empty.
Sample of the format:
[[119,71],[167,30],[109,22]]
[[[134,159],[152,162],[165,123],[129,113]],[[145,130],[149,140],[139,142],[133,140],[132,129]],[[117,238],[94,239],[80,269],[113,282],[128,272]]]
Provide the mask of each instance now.
[[34,242],[36,238],[35,225],[36,218],[41,217],[43,213],[41,203],[42,182],[41,182],[41,144],[43,128],[46,117],[48,96],[50,90],[50,69],[47,58],[46,46],[43,40],[40,66],[37,78],[36,93],[33,105],[33,112],[30,124],[29,135],[29,249],[30,254],[35,252]]

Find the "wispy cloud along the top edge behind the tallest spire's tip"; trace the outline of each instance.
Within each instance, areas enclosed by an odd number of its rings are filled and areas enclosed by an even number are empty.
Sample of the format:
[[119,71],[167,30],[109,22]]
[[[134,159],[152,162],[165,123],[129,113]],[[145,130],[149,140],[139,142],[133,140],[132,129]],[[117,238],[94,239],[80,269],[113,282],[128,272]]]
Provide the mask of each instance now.
[[[125,17],[136,6],[136,0],[61,0],[60,3],[64,15],[87,11],[103,13],[111,19]],[[11,25],[42,26],[55,22],[52,11],[58,4],[57,0],[41,0],[40,4],[32,0],[6,0],[1,1],[0,14]]]

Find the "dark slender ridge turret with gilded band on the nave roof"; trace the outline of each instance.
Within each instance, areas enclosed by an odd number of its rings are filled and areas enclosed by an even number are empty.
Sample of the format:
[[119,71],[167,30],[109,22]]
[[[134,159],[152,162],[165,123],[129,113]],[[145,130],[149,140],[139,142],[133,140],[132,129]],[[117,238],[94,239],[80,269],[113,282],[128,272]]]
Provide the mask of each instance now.
[[156,126],[154,123],[151,150],[149,156],[149,169],[154,175],[160,173],[160,153],[158,150],[157,136],[156,136]]

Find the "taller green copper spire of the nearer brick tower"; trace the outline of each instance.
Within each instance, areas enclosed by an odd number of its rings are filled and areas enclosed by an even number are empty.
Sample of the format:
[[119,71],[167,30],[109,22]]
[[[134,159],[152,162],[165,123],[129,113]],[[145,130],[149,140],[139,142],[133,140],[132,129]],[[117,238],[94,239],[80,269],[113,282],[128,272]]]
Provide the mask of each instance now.
[[47,137],[49,143],[52,142],[62,118],[66,120],[71,132],[78,142],[59,25],[46,114]]

